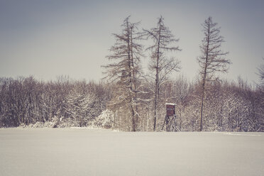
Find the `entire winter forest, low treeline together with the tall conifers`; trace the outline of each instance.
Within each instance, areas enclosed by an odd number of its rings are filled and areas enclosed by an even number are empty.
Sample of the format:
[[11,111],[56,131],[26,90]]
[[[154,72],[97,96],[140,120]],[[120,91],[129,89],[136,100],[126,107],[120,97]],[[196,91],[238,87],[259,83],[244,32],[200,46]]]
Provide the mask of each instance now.
[[[129,16],[121,33],[113,34],[108,65],[102,65],[101,82],[39,81],[33,76],[0,77],[0,127],[91,126],[119,131],[162,131],[165,103],[176,104],[180,131],[264,131],[264,65],[256,68],[260,82],[249,84],[238,77],[224,80],[231,60],[221,50],[220,27],[207,18],[196,79],[172,77],[179,72],[178,39],[160,16],[156,26],[140,29]],[[141,42],[148,40],[150,45]],[[148,55],[146,55],[148,53]],[[141,59],[148,57],[148,74]],[[194,58],[195,60],[195,58]],[[184,69],[184,68],[183,68]]]

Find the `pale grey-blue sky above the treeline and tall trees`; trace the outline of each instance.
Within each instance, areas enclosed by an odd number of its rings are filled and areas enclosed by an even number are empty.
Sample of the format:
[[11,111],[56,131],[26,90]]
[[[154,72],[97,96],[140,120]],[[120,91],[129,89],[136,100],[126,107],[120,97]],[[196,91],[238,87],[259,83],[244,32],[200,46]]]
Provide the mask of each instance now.
[[[182,62],[180,73],[196,77],[201,23],[212,16],[221,26],[233,64],[227,79],[239,75],[258,82],[256,67],[264,57],[264,1],[57,1],[0,0],[0,77],[33,75],[37,79],[99,80],[106,65],[111,33],[120,33],[123,19],[141,21],[153,28],[165,18],[182,51],[174,53]],[[148,55],[143,58],[148,62]],[[146,65],[146,64],[145,64]]]

